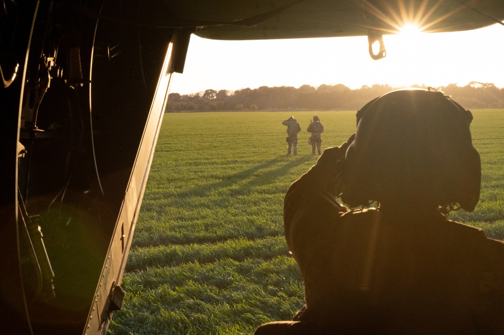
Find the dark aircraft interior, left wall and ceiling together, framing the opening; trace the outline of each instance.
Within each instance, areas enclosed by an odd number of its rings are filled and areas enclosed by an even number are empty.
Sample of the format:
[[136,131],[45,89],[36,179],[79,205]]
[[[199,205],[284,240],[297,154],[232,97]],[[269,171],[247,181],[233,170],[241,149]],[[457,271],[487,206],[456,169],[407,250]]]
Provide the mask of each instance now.
[[121,308],[170,82],[192,34],[367,36],[379,59],[383,35],[405,24],[434,33],[504,20],[502,0],[2,4],[0,333],[19,334],[104,334]]

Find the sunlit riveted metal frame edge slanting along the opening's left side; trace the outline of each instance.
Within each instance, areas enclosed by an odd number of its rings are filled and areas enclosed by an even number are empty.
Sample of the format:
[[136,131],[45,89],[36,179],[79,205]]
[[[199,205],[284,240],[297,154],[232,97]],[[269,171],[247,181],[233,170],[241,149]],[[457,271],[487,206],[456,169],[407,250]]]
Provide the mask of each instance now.
[[86,335],[105,334],[113,311],[122,306],[125,292],[120,283],[166,109],[171,77],[174,72],[181,73],[183,70],[190,34],[191,32],[187,30],[175,30],[168,45],[135,164],[86,321],[84,329]]

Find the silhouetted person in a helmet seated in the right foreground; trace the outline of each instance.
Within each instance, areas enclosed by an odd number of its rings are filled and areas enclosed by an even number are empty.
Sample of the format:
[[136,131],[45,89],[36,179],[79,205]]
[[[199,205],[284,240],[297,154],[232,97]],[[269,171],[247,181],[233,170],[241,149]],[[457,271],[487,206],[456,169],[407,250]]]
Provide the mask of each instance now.
[[504,334],[504,243],[446,217],[479,199],[471,121],[420,89],[359,110],[355,135],[285,196],[306,304],[256,335]]

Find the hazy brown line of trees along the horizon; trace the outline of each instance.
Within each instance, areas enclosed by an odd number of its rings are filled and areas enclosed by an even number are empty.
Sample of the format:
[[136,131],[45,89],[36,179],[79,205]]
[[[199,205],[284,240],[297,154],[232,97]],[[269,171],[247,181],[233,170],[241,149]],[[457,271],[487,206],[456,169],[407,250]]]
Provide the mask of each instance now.
[[[412,87],[428,88],[425,85]],[[236,91],[208,89],[183,95],[170,93],[166,111],[357,110],[368,101],[395,89],[398,87],[379,84],[364,85],[359,89],[350,89],[343,84],[303,85],[299,88],[261,86]],[[504,108],[504,88],[492,83],[449,84],[434,89],[451,96],[466,109]]]

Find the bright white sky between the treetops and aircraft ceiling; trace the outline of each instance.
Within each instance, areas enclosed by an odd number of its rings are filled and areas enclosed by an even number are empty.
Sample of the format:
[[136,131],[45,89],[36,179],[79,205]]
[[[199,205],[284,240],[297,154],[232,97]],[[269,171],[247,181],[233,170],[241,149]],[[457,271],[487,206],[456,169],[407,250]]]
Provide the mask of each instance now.
[[471,81],[504,87],[504,26],[455,33],[384,36],[387,56],[372,60],[367,37],[219,41],[191,36],[183,74],[170,92],[260,86],[389,84],[394,87]]

